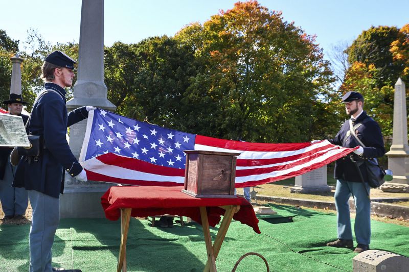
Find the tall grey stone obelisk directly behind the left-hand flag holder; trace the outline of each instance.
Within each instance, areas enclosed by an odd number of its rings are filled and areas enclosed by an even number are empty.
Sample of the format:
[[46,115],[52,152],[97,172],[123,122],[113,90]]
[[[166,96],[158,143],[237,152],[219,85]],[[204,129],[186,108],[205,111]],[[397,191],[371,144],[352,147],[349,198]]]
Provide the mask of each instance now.
[[[104,83],[104,1],[82,0],[81,30],[77,81],[74,97],[67,102],[68,111],[81,106],[95,106],[110,111],[115,105],[107,100]],[[86,130],[86,119],[70,127],[70,148],[79,158]],[[64,194],[60,198],[61,218],[103,217],[101,195],[108,183],[79,182],[65,175]]]

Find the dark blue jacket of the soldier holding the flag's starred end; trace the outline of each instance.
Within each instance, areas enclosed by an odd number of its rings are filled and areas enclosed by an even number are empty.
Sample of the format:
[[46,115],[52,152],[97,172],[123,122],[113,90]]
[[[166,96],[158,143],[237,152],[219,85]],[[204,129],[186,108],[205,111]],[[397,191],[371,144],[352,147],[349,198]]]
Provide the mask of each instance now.
[[23,157],[14,177],[14,187],[25,187],[58,198],[64,191],[64,173],[75,177],[82,171],[82,166],[70,150],[66,140],[67,127],[88,117],[85,107],[67,113],[65,90],[57,84],[47,82],[42,95],[31,111],[28,134],[40,135],[44,149],[38,160]]

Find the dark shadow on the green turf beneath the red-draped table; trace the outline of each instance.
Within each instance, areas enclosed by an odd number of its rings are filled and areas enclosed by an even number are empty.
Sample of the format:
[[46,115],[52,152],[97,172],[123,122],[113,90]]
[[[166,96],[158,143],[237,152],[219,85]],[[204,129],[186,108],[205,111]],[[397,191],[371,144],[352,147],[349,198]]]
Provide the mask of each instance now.
[[[127,269],[129,271],[172,271],[175,267],[180,271],[197,271],[204,267],[195,255],[193,255],[180,242],[173,242],[172,239],[165,239],[155,235],[154,230],[149,225],[144,225],[140,220],[131,218],[129,224],[128,238],[126,243]],[[97,228],[95,226],[98,226]],[[60,228],[74,228],[77,233],[89,233],[93,235],[102,245],[87,245],[86,241],[82,245],[73,245],[74,251],[90,252],[96,250],[109,250],[118,261],[119,246],[121,241],[120,222],[106,219],[82,219],[78,223],[72,224],[69,220],[61,220]],[[156,228],[153,228],[156,229]],[[189,236],[190,239],[197,238],[203,241],[202,231],[195,228],[173,227],[161,228],[164,232],[176,234],[178,236]],[[205,256],[206,257],[206,256]],[[166,260],[166,262],[161,260]],[[116,263],[115,263],[116,266]],[[86,268],[83,268],[86,271]]]

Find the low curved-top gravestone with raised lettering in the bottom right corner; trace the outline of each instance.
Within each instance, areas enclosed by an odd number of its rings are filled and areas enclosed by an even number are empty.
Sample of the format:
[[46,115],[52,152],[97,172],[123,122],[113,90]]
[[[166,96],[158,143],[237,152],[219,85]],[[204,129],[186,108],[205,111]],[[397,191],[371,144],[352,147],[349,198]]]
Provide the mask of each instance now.
[[381,250],[367,250],[353,259],[353,272],[402,272],[409,269],[409,258]]

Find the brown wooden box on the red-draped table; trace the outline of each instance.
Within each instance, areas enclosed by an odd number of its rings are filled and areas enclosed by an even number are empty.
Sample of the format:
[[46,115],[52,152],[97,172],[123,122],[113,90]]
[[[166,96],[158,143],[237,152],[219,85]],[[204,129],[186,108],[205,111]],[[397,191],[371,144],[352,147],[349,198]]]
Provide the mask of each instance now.
[[237,197],[236,159],[240,153],[186,150],[184,193],[194,197]]

